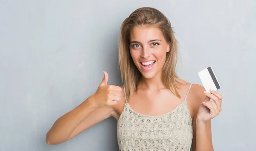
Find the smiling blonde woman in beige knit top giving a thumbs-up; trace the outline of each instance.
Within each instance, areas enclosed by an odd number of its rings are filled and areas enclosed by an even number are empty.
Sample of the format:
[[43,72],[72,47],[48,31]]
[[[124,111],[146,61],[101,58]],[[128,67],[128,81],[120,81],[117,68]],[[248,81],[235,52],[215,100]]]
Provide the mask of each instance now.
[[[177,41],[171,23],[153,8],[124,20],[119,40],[123,86],[107,85],[60,117],[47,133],[48,144],[75,137],[115,117],[120,151],[213,151],[211,122],[222,96],[177,77]],[[209,101],[212,99],[213,101]]]

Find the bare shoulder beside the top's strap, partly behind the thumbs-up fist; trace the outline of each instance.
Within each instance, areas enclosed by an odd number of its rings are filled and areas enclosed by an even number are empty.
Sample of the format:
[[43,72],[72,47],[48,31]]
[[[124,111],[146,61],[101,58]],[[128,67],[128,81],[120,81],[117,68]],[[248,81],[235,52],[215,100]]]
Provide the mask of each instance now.
[[112,105],[111,107],[113,108],[113,112],[112,112],[112,116],[115,117],[116,120],[119,119],[122,110],[125,106],[125,94],[124,94],[124,87],[123,85],[119,86],[120,88],[122,88],[122,92],[121,92],[121,100],[119,100],[117,102],[116,105]]

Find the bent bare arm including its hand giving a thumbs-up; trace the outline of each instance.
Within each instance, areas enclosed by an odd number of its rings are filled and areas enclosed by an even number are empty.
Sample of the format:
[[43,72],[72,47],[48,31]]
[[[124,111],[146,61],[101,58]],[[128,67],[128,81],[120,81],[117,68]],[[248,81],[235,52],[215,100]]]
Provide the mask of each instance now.
[[107,82],[108,73],[104,72],[97,91],[52,125],[47,133],[47,144],[56,145],[70,140],[96,123],[116,115],[113,108],[121,98],[124,100],[124,94],[121,93],[122,87],[107,85]]

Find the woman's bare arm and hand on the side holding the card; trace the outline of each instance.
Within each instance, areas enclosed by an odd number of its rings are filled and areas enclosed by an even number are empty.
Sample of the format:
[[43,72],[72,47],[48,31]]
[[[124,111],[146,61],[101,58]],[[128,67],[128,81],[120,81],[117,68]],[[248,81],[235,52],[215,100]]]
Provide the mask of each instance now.
[[[209,94],[204,94],[204,91],[201,85],[194,85],[192,91],[194,111],[192,151],[213,151],[211,119],[221,111],[222,96],[216,91]],[[210,99],[214,102],[210,102]]]

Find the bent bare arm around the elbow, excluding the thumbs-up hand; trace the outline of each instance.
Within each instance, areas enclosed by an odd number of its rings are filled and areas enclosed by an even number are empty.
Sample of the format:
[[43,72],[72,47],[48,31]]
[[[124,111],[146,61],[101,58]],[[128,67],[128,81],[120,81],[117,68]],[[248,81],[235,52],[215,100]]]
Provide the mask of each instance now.
[[66,142],[91,126],[107,119],[113,108],[95,108],[90,97],[79,106],[64,114],[52,125],[47,133],[47,144],[57,145]]

